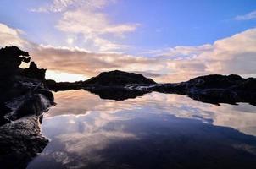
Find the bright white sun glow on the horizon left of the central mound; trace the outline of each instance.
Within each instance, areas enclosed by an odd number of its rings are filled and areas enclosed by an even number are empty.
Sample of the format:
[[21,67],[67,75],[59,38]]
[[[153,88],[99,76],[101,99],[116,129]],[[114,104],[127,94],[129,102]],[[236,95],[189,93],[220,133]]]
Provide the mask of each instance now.
[[71,74],[61,71],[47,70],[46,79],[53,79],[56,82],[75,82],[86,80],[88,77],[86,77],[84,74]]

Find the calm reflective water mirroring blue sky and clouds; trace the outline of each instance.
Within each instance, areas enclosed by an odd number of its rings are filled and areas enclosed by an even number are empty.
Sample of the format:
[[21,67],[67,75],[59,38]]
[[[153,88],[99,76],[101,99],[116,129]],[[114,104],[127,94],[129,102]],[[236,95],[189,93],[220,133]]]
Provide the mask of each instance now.
[[50,142],[28,168],[255,168],[256,106],[160,93],[54,95],[58,105],[42,121]]

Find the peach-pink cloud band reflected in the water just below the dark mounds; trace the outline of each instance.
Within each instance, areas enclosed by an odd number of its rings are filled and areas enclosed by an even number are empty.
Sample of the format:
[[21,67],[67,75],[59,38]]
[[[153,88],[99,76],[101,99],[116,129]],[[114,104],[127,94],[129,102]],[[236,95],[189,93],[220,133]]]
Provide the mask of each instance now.
[[[256,127],[255,107],[246,103],[238,106],[227,104],[215,106],[194,101],[185,95],[166,95],[155,92],[126,101],[109,101],[101,100],[97,95],[83,90],[58,92],[55,93],[55,98],[58,106],[53,107],[47,117],[70,113],[97,113],[93,123],[86,124],[91,125],[91,129],[95,126],[103,127],[110,121],[132,119],[136,117],[135,112],[147,111],[148,113],[168,113],[175,117],[198,119],[204,123],[236,128],[243,133],[256,135],[254,130]],[[120,111],[130,113],[119,116]]]

